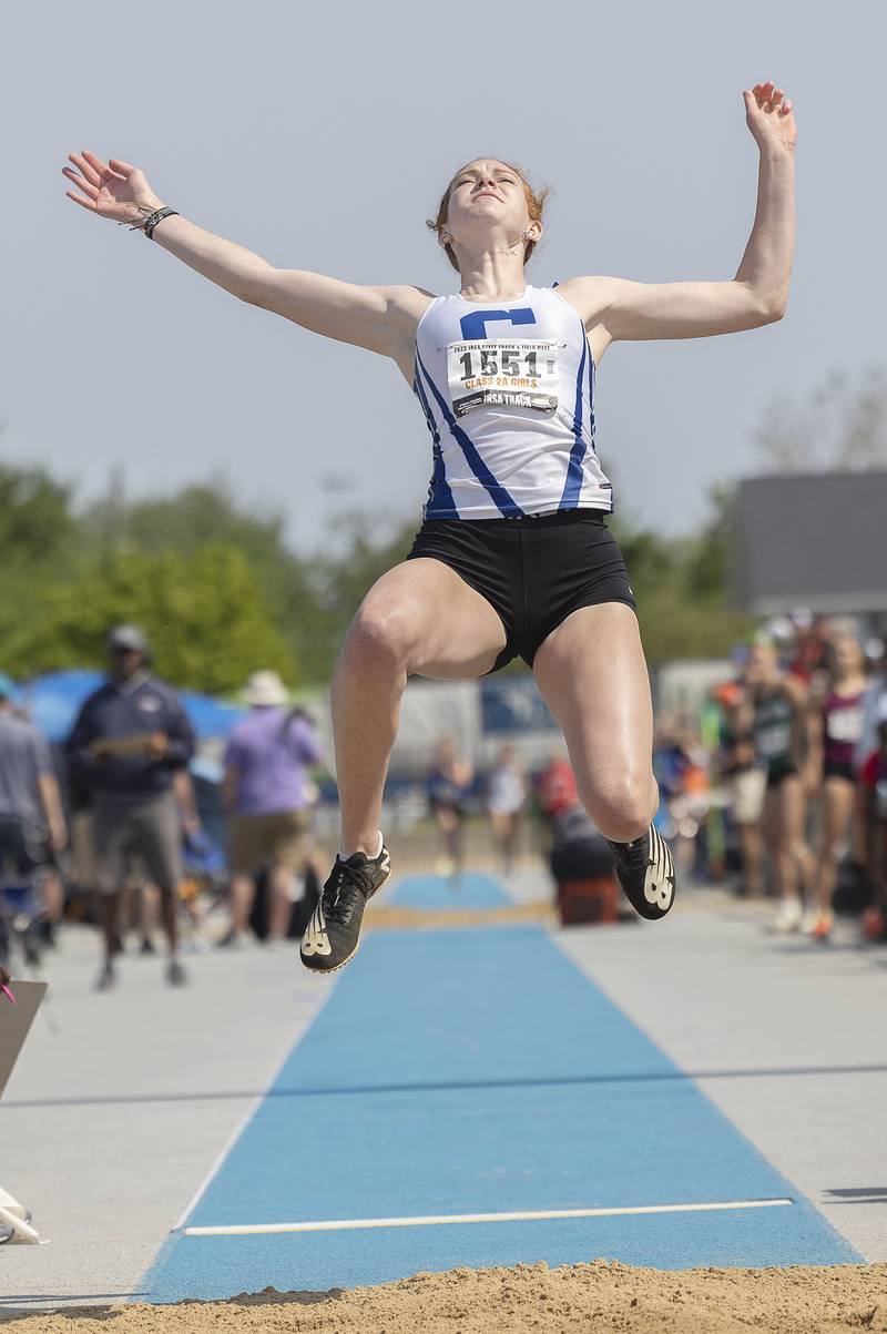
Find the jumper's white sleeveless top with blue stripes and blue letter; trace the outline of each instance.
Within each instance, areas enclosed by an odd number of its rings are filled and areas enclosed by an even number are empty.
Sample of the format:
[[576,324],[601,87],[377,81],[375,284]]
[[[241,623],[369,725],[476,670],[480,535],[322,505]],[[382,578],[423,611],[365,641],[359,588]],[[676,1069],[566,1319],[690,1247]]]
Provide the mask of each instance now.
[[435,297],[416,329],[413,390],[432,439],[425,519],[612,511],[586,328],[552,287],[495,304]]

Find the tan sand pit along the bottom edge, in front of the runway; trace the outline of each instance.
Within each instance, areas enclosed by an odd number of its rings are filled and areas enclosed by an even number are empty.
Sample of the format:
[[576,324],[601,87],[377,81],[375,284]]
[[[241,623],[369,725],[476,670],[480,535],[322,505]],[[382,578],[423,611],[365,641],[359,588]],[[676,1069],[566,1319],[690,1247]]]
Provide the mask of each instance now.
[[11,1321],[15,1334],[832,1334],[887,1331],[887,1265],[692,1269],[608,1261],[416,1274],[351,1291],[119,1306]]

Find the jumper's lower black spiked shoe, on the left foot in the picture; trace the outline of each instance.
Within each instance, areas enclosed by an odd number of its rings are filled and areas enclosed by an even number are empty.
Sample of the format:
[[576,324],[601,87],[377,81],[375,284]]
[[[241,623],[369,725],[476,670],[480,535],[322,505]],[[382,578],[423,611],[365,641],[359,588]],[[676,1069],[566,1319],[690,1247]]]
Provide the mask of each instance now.
[[299,958],[312,972],[335,972],[353,958],[367,899],[391,874],[388,848],[379,856],[355,852],[347,862],[336,858],[317,907],[301,938]]

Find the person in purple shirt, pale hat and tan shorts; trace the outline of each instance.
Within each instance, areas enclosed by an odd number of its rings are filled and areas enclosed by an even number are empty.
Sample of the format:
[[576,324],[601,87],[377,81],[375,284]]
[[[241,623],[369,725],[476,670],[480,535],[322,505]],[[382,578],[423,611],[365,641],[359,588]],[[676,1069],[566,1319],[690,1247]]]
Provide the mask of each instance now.
[[285,938],[295,875],[307,860],[311,826],[308,767],[320,759],[317,734],[304,712],[288,707],[273,671],[252,674],[243,692],[251,706],[225,750],[223,802],[231,828],[231,930],[223,944],[243,942],[256,874],[268,871],[269,943]]

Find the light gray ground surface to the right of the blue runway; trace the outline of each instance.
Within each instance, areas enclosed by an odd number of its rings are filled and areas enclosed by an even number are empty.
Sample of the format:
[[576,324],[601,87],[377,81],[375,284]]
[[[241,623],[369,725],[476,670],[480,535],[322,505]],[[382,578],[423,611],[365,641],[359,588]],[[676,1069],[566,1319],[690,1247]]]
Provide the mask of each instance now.
[[772,907],[700,896],[558,939],[864,1259],[887,1261],[887,947],[846,922],[830,944],[768,936]]

